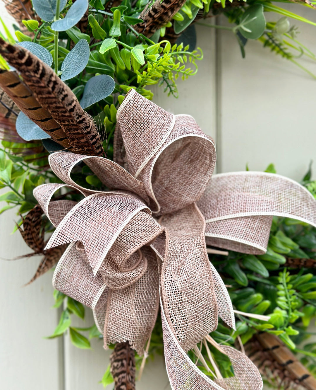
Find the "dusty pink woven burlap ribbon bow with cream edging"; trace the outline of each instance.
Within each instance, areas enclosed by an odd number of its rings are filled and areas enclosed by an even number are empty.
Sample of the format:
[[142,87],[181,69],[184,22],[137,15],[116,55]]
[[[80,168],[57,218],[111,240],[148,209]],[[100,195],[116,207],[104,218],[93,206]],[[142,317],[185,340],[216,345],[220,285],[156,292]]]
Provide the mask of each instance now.
[[[316,202],[305,188],[274,174],[211,179],[215,158],[213,140],[192,117],[171,115],[130,90],[117,112],[115,162],[53,153],[49,164],[65,184],[43,184],[34,195],[56,227],[47,248],[70,243],[53,285],[93,309],[105,346],[129,341],[143,353],[160,302],[174,390],[259,390],[258,370],[231,347],[222,346],[235,376],[216,381],[186,354],[216,329],[218,316],[235,327],[205,238],[210,245],[261,254],[273,215],[316,226]],[[81,162],[108,191],[88,190],[72,180],[71,171]],[[64,185],[84,199],[51,201]]]

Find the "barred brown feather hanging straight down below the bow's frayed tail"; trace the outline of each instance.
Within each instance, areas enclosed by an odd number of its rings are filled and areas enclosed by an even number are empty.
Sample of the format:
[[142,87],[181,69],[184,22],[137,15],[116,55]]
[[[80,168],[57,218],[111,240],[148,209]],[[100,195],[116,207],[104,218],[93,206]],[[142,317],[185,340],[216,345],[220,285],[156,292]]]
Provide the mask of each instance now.
[[128,342],[115,344],[110,363],[114,390],[135,390],[135,354]]

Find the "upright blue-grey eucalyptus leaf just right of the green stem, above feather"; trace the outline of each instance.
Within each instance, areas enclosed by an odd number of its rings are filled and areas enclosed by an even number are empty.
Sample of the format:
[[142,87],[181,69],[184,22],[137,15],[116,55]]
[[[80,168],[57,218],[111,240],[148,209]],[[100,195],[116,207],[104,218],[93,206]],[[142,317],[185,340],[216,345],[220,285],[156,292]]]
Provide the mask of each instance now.
[[89,44],[85,39],[80,39],[74,48],[66,55],[64,62],[62,63],[62,80],[69,80],[82,72],[88,64],[89,57]]

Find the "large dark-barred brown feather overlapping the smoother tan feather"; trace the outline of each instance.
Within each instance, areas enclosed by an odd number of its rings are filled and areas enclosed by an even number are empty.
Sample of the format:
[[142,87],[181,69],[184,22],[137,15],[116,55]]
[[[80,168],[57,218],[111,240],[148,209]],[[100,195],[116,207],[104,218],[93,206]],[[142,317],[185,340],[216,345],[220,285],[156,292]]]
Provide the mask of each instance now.
[[49,120],[52,117],[62,127],[73,152],[105,156],[94,121],[53,69],[30,51],[1,38],[0,54],[21,74],[39,105],[50,114]]

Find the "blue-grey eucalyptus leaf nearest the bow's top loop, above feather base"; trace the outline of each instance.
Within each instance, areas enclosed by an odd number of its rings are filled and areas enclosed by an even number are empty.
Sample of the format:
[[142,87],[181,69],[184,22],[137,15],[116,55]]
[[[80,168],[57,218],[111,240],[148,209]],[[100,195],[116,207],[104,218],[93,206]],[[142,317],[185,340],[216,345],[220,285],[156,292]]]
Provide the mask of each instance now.
[[115,88],[115,81],[108,74],[101,74],[90,78],[83,91],[83,97],[80,101],[82,108],[87,108],[97,101],[105,99]]

